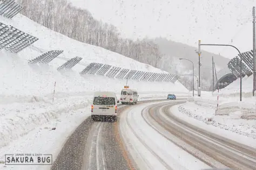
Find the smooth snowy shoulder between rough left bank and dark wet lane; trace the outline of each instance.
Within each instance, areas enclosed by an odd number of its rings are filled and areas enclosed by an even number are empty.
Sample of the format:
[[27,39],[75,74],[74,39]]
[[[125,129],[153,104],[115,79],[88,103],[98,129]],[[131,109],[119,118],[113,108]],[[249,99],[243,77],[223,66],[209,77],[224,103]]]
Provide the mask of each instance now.
[[[65,144],[66,139],[90,114],[85,112],[90,107],[80,110],[70,110],[58,115],[57,119],[35,127],[25,136],[14,140],[8,146],[0,148],[0,169],[50,169],[50,165],[4,165],[4,154],[43,153],[52,154],[53,161]],[[55,129],[53,129],[55,128]]]

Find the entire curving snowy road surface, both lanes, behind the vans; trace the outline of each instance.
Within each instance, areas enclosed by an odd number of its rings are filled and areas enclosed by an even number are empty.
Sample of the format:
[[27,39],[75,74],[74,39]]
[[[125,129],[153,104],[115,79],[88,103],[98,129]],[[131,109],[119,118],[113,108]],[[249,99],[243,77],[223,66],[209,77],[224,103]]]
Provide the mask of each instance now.
[[120,105],[118,121],[87,118],[51,169],[253,169],[255,149],[199,129],[171,114],[185,100]]

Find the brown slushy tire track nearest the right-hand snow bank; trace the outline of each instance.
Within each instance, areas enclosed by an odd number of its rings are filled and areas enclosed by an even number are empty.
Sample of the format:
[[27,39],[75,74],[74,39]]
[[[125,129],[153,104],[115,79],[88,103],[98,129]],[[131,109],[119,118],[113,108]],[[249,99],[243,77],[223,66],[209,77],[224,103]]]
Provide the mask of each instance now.
[[254,169],[256,167],[254,148],[250,149],[250,147],[230,139],[219,137],[217,134],[207,132],[173,116],[169,113],[171,106],[166,104],[162,107],[163,111],[158,107],[158,114],[154,110],[150,116],[165,130],[227,167],[234,169]]

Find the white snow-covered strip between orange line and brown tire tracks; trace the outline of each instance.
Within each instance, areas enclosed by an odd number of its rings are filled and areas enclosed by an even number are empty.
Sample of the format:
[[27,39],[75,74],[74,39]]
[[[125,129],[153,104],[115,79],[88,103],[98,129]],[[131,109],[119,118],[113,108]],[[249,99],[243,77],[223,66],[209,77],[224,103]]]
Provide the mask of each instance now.
[[[170,103],[174,101],[165,101]],[[180,161],[180,155],[186,155],[183,151],[181,154],[173,153],[180,150],[171,142],[166,141],[161,134],[149,127],[144,121],[140,112],[147,107],[160,102],[145,103],[137,105],[129,110],[126,110],[120,115],[119,129],[120,134],[126,144],[126,150],[129,151],[131,158],[138,167],[137,169],[174,169],[174,170],[190,170],[187,165],[193,167],[205,167],[200,161],[189,162]],[[187,158],[193,158],[191,155]]]

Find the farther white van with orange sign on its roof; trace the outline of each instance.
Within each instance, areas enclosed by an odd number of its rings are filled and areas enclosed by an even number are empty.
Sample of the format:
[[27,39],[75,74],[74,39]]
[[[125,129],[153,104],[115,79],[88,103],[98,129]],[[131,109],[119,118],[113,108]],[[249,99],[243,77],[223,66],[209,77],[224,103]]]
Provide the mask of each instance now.
[[138,91],[134,89],[122,89],[120,101],[122,104],[136,104],[138,102]]

